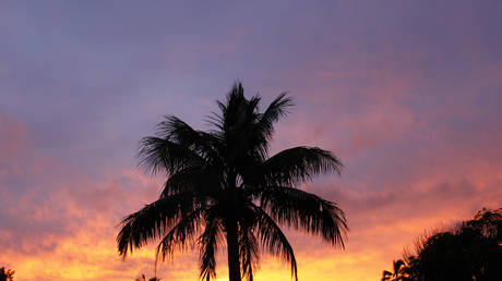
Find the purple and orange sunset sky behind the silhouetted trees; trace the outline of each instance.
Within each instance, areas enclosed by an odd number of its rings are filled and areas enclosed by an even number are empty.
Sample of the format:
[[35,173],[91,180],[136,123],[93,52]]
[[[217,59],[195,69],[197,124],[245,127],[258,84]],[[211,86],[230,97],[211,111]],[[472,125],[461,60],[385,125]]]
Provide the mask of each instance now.
[[[210,130],[236,81],[288,91],[272,152],[344,162],[301,188],[335,201],[345,249],[287,230],[299,278],[379,280],[417,236],[502,207],[500,1],[0,0],[0,266],[16,280],[133,280],[120,220],[158,196],[139,140],[174,114]],[[218,280],[228,280],[225,253]],[[196,280],[198,252],[159,264]],[[255,280],[291,280],[262,258]]]

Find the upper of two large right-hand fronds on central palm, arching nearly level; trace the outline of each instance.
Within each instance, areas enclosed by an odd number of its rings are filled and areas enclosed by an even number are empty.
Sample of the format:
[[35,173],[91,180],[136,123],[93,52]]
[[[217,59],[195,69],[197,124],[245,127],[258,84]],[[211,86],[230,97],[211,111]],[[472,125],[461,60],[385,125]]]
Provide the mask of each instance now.
[[295,186],[328,172],[342,173],[342,161],[318,147],[294,147],[268,158],[255,170],[259,183]]

